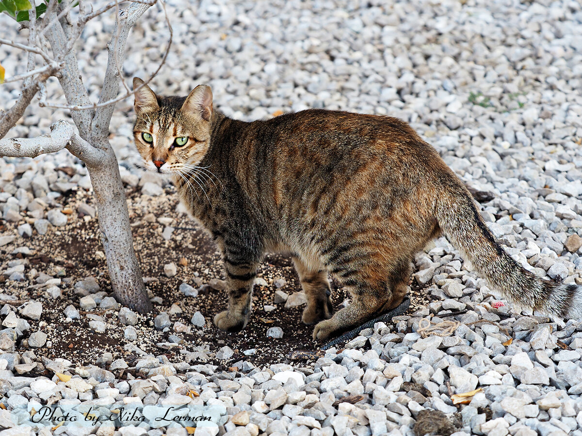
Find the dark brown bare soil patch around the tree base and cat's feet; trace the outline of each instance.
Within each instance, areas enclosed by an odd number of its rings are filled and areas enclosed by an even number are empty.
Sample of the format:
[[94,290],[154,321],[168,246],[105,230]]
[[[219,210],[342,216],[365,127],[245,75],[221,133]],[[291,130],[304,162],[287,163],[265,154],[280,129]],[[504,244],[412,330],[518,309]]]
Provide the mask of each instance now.
[[[267,285],[255,285],[253,315],[249,325],[239,334],[225,333],[212,323],[214,315],[226,307],[225,292],[207,287],[198,296],[187,297],[179,291],[180,284],[184,282],[197,287],[194,283],[196,280],[207,284],[211,279],[223,278],[221,256],[210,238],[189,217],[176,212],[178,198],[173,188],[167,188],[165,194],[155,198],[140,195],[133,188],[127,190],[127,195],[134,247],[147,281],[147,288],[157,297],[151,313],[138,314],[139,322],[134,326],[138,338],[137,341],[133,341],[134,345],[146,353],[164,354],[171,362],[180,362],[184,360],[187,352],[208,346],[210,355],[208,360],[191,363],[215,363],[223,367],[232,366],[240,360],[247,360],[256,366],[289,363],[288,356],[293,351],[318,349],[317,342],[311,339],[313,326],[306,326],[301,322],[303,306],[285,309],[283,303],[274,303],[277,288],[273,282],[277,278],[285,279],[286,285],[282,290],[288,294],[301,290],[299,278],[289,258],[279,255],[267,256],[258,271],[258,277],[264,278]],[[135,349],[133,351],[126,349],[130,341],[124,337],[123,331],[126,326],[119,322],[117,310],[103,310],[97,306],[93,310],[84,311],[79,306],[80,295],[74,290],[74,283],[78,280],[94,276],[100,284],[100,291],[111,293],[107,265],[100,252],[102,246],[98,220],[77,213],[80,202],[91,204],[91,195],[79,189],[61,201],[63,207],[73,209],[69,223],[65,227],[51,226],[45,235],[34,231],[30,239],[17,238],[12,244],[0,248],[2,257],[7,260],[22,258],[22,254],[10,254],[17,246],[26,245],[34,251],[27,258],[28,264],[24,273],[26,280],[7,281],[6,277],[0,276],[0,288],[3,287],[4,294],[16,296],[17,302],[9,302],[13,306],[30,299],[42,302],[41,319],[29,321],[31,329],[25,335],[26,338],[38,330],[47,333],[47,346],[35,349],[37,356],[44,355],[49,359],[65,358],[71,360],[73,364],[90,364],[95,363],[104,352],[111,352],[113,359],[123,358],[130,363],[139,356],[136,355]],[[156,218],[154,222],[144,219],[150,213]],[[167,241],[162,237],[165,225],[157,220],[160,217],[171,218],[170,225],[175,228],[172,237]],[[3,230],[11,234],[17,224],[19,223],[5,223]],[[182,258],[187,260],[186,265],[180,264]],[[164,265],[170,262],[178,266],[178,273],[174,277],[166,277],[164,274]],[[39,273],[61,278],[63,298],[51,298],[45,291],[46,287],[36,285],[34,277]],[[420,288],[413,287],[412,294],[410,312],[427,303],[426,296]],[[346,292],[332,281],[332,298],[336,309],[346,297]],[[80,319],[66,320],[63,310],[70,304],[79,310]],[[179,306],[182,313],[171,313],[174,304]],[[276,309],[265,312],[264,305],[276,306]],[[191,316],[197,310],[205,317],[206,324],[203,328],[190,323]],[[190,326],[190,332],[179,334],[184,338],[182,344],[168,349],[168,338],[174,332],[154,328],[154,318],[160,312],[168,312],[172,323],[179,321]],[[97,333],[89,327],[89,321],[95,316],[104,318],[107,325],[105,333]],[[275,326],[282,328],[282,339],[267,338],[268,328]],[[22,345],[22,342],[19,344]],[[215,359],[214,352],[225,345],[232,348],[235,354],[226,362]],[[257,351],[255,355],[243,355],[243,351],[253,348]],[[21,346],[17,351],[24,352],[28,349]],[[307,364],[309,361],[303,362]]]

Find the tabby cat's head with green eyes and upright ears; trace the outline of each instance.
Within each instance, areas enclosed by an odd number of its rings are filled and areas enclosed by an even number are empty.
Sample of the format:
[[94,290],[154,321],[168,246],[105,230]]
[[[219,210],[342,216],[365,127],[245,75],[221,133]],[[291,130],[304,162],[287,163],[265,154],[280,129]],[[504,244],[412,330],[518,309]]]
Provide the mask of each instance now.
[[134,77],[133,88],[137,90],[133,137],[145,168],[164,174],[188,173],[210,145],[210,87],[198,85],[188,97],[162,97]]

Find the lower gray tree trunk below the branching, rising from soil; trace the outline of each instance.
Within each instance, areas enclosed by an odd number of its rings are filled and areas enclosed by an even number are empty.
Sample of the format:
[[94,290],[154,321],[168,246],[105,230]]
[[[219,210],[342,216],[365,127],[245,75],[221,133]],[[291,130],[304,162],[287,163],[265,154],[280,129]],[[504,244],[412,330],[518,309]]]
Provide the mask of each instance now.
[[133,249],[132,229],[118,162],[111,146],[104,150],[106,158],[88,164],[93,184],[101,242],[107,258],[115,299],[124,306],[145,313],[152,309]]

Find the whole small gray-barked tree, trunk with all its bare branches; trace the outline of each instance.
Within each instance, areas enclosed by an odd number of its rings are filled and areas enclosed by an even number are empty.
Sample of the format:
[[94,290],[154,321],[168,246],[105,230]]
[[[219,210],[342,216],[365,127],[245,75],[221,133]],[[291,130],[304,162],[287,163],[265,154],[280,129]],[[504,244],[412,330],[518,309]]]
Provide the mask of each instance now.
[[[36,157],[41,153],[51,153],[67,148],[77,158],[86,163],[97,203],[101,242],[103,244],[113,295],[122,305],[139,312],[152,309],[150,300],[133,249],[133,237],[129,225],[129,213],[125,191],[119,175],[119,166],[115,152],[109,145],[109,122],[113,114],[114,101],[119,91],[119,66],[125,52],[125,42],[129,31],[143,13],[153,4],[132,2],[120,10],[119,19],[108,44],[109,59],[105,72],[104,84],[99,105],[93,105],[83,84],[77,57],[72,50],[74,41],[79,37],[82,26],[91,17],[118,5],[109,3],[104,8],[91,12],[87,1],[81,0],[79,8],[81,16],[79,26],[74,28],[66,9],[66,3],[59,5],[55,0],[49,2],[47,12],[42,20],[45,37],[51,45],[52,52],[58,63],[53,63],[43,74],[36,78],[26,77],[23,92],[16,104],[8,112],[0,113],[0,138],[14,126],[22,116],[24,109],[39,91],[42,83],[58,70],[58,79],[65,94],[71,117],[79,129],[77,134],[69,123],[58,121],[51,126],[51,133],[38,138],[12,138],[0,140],[0,156]],[[60,20],[58,11],[62,13]],[[36,31],[31,13],[31,32]],[[34,44],[33,33],[29,46],[10,42],[14,47],[23,48],[29,53],[39,53],[47,63],[52,60]],[[2,42],[3,40],[0,40]],[[167,51],[166,51],[167,54]],[[165,59],[165,57],[164,57]],[[62,62],[61,62],[62,61]],[[28,72],[34,68],[34,56],[29,56]],[[76,108],[83,108],[77,110]]]

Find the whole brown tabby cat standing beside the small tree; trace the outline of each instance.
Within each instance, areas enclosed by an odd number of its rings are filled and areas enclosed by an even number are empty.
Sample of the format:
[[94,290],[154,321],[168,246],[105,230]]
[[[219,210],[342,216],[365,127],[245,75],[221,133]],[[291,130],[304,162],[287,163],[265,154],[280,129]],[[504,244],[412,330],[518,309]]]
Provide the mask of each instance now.
[[[134,88],[142,85],[134,78]],[[147,169],[180,198],[223,254],[226,331],[249,322],[257,265],[288,253],[307,295],[303,322],[324,341],[404,298],[414,253],[446,235],[503,294],[558,317],[582,316],[582,287],[541,280],[496,242],[464,184],[403,121],[311,109],[244,122],[187,97],[135,93],[134,137]],[[352,295],[332,309],[328,273]]]

